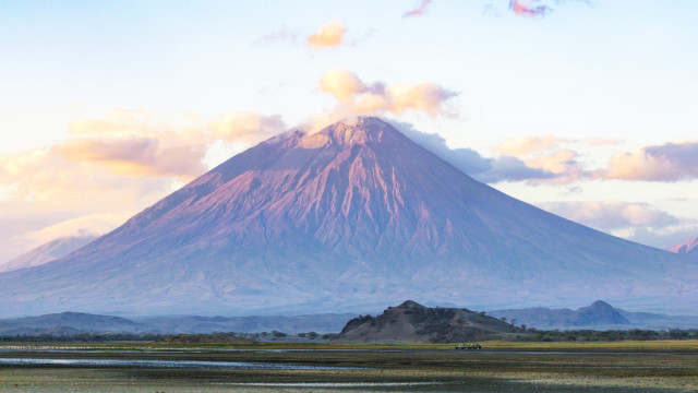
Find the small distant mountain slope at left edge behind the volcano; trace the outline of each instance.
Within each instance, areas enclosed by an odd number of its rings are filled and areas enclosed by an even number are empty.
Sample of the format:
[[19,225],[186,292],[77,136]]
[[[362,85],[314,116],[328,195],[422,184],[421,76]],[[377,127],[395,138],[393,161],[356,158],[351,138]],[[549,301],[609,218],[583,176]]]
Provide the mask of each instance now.
[[96,238],[96,236],[74,236],[49,241],[9,262],[0,264],[0,273],[43,265],[46,262],[68,255]]

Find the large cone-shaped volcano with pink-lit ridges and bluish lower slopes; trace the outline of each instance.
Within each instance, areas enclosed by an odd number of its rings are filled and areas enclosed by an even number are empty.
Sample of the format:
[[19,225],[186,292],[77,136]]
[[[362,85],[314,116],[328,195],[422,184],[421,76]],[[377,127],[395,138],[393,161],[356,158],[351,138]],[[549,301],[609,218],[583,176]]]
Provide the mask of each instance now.
[[77,252],[0,274],[0,314],[362,312],[408,298],[683,309],[698,300],[695,267],[360,118],[263,142]]

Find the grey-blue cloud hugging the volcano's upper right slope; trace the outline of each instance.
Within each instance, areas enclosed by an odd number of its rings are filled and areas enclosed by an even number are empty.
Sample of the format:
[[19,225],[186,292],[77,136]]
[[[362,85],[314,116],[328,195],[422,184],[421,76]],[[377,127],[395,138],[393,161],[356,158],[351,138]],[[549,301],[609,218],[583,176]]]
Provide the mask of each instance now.
[[398,121],[392,121],[392,123],[414,143],[480,181],[494,183],[554,177],[549,171],[527,166],[516,157],[486,158],[471,148],[450,148],[443,136],[420,132],[409,123]]

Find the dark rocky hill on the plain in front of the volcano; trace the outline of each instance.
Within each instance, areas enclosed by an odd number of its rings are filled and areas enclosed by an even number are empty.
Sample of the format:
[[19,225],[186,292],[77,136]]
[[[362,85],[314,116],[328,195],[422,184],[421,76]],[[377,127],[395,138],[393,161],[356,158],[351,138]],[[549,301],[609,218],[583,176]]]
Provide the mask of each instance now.
[[428,308],[408,300],[377,317],[349,321],[336,342],[342,343],[459,343],[480,341],[520,329],[484,313],[458,308]]

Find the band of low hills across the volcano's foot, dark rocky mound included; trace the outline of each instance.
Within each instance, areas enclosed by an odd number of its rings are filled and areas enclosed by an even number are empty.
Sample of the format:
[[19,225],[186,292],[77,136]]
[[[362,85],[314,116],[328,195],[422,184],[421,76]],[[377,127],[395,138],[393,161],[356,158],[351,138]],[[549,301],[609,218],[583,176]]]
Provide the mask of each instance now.
[[[505,318],[505,319],[503,319]],[[515,326],[513,326],[514,324]],[[627,312],[604,301],[578,310],[531,308],[476,312],[455,307],[424,307],[406,301],[376,317],[352,313],[250,317],[148,317],[128,319],[82,312],[0,320],[2,335],[74,335],[77,333],[337,333],[344,342],[452,342],[520,331],[561,329],[687,329],[698,327],[698,315]]]

